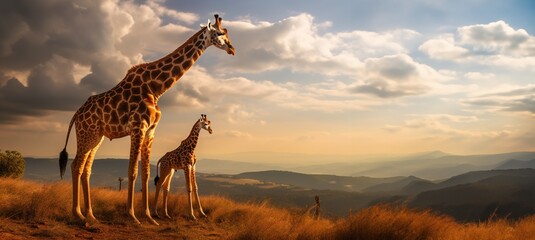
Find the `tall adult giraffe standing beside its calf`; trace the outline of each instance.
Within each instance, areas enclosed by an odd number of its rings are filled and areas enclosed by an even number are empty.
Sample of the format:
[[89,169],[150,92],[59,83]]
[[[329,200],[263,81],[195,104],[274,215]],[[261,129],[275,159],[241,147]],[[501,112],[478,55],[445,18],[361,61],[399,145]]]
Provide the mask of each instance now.
[[[87,223],[97,222],[91,209],[89,178],[95,153],[104,137],[111,139],[130,136],[130,162],[128,164],[128,214],[140,224],[134,214],[134,182],[138,172],[138,157],[141,153],[141,180],[145,216],[153,224],[149,210],[148,182],[150,175],[149,155],[154,130],[161,112],[157,105],[165,93],[211,45],[234,55],[227,30],[221,27],[221,18],[216,14],[215,23],[202,27],[184,44],[167,56],[154,62],[132,67],[124,79],[111,90],[93,95],[76,111],[69,124],[65,148],[60,153],[61,177],[67,166],[67,142],[73,123],[76,124],[76,157],[71,164],[73,205],[75,217]],[[86,215],[81,212],[80,180],[84,192]]]

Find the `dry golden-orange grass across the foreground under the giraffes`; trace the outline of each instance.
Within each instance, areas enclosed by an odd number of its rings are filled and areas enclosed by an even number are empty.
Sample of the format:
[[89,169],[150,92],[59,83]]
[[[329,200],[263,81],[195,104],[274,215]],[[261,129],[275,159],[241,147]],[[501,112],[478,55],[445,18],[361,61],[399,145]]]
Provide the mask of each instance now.
[[170,196],[174,220],[152,226],[140,217],[144,224],[136,226],[126,214],[126,194],[93,188],[93,210],[102,223],[85,227],[71,216],[70,184],[0,179],[0,239],[535,239],[535,216],[460,224],[428,211],[377,205],[346,218],[316,220],[303,211],[218,196],[201,197],[208,218],[194,222],[184,194]]

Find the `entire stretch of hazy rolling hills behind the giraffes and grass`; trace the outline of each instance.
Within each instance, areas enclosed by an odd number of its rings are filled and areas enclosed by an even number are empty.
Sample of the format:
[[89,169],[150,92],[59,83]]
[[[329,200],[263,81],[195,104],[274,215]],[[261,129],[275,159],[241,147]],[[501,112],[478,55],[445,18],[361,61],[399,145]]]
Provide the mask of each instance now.
[[[60,180],[57,159],[25,160],[24,178],[34,181]],[[268,199],[278,206],[297,208],[313,204],[314,196],[319,195],[325,214],[337,216],[380,202],[431,208],[461,221],[485,220],[493,214],[519,218],[535,213],[534,153],[452,156],[431,152],[386,163],[345,164],[348,167],[346,172],[353,173],[378,173],[380,165],[388,165],[390,168],[385,167],[386,172],[421,174],[339,176],[292,172],[261,163],[201,159],[197,166],[201,172],[198,178],[199,191],[201,194],[223,195],[239,201]],[[473,168],[466,167],[466,164]],[[361,167],[349,169],[351,166]],[[400,169],[394,171],[395,167]],[[433,178],[421,177],[437,174],[437,169],[447,169],[449,172],[439,171],[439,176],[445,176],[441,180],[437,175],[433,175]],[[126,159],[97,159],[93,164],[92,186],[118,189],[118,178],[126,179],[127,170]],[[459,174],[449,176],[454,172]],[[155,166],[152,166],[151,191],[155,174]],[[70,180],[68,167],[62,181]],[[140,189],[140,182],[136,181],[136,189]],[[184,185],[184,176],[179,171],[173,177],[171,191],[185,192]]]

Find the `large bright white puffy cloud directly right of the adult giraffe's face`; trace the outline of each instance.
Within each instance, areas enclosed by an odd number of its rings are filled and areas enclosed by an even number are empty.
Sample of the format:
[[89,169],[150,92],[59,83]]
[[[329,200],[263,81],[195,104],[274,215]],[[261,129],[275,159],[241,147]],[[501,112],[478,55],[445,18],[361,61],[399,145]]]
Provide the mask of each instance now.
[[[362,108],[370,104],[355,104],[367,98],[357,95],[379,98],[421,95],[431,92],[437,83],[451,79],[447,74],[418,63],[408,55],[405,45],[419,36],[419,33],[412,30],[321,33],[328,31],[330,25],[321,26],[323,31],[320,32],[318,29],[322,24],[314,22],[314,18],[306,13],[275,23],[253,23],[249,20],[226,23],[232,30],[230,35],[236,42],[235,45],[239,46],[240,54],[220,63],[220,73],[260,73],[290,69],[324,77],[342,77],[346,82],[354,81],[352,84],[337,83],[337,86],[327,88],[317,84],[299,85],[308,89],[322,87],[318,91],[324,93],[331,90],[331,96],[351,92],[354,93],[352,99],[344,95],[348,98],[338,101],[329,101],[327,98],[320,99],[319,102],[315,99],[305,100],[307,93],[316,91],[311,90],[302,91],[292,98],[293,101],[284,101],[282,104],[285,106],[303,106],[305,102],[315,102],[310,104],[314,106],[305,105],[317,109],[330,108],[339,103],[348,109]],[[345,89],[341,88],[342,85],[345,85]],[[342,93],[332,94],[334,90]],[[284,95],[295,94],[285,92]]]

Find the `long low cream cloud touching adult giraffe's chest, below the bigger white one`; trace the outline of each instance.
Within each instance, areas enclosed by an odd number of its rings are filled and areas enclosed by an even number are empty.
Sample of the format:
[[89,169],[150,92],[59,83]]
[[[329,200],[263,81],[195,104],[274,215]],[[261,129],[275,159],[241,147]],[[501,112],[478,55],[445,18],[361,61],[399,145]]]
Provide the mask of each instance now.
[[[276,83],[272,81],[253,81],[244,77],[224,78],[215,77],[201,66],[192,67],[188,74],[180,80],[172,93],[164,95],[175,96],[171,101],[181,106],[206,108],[218,107],[229,115],[229,121],[235,122],[245,105],[267,104],[273,107],[283,107],[298,110],[313,110],[323,112],[365,109],[371,106],[389,104],[389,101],[377,101],[368,96],[356,96],[348,89],[352,85],[339,81],[321,83]],[[194,104],[191,104],[194,103]],[[166,102],[165,104],[169,104]],[[221,107],[223,106],[223,107]],[[234,106],[234,107],[229,107]],[[241,117],[244,117],[241,114]],[[261,121],[258,120],[257,121]]]

